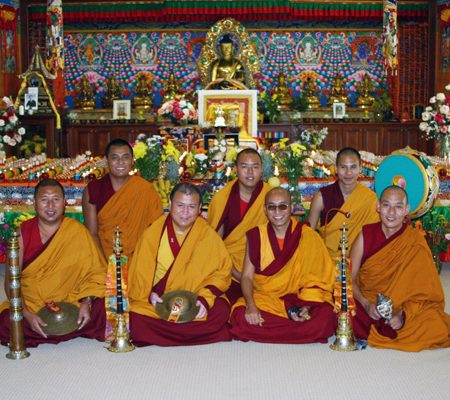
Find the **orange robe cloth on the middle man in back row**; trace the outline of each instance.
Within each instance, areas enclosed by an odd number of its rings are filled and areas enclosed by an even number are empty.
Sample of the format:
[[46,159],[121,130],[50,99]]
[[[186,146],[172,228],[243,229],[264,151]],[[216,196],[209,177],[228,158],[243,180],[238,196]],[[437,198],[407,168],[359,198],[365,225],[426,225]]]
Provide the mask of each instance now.
[[[236,180],[229,182],[223,189],[217,192],[209,205],[208,222],[215,230],[218,228],[217,225],[222,218],[228,197],[235,182]],[[264,214],[264,198],[269,190],[271,190],[271,187],[264,183],[261,193],[245,214],[242,222],[224,240],[231,260],[233,261],[233,266],[239,272],[242,271],[245,258],[245,234],[255,226],[267,223],[267,217]],[[239,204],[236,204],[236,207],[239,207]]]

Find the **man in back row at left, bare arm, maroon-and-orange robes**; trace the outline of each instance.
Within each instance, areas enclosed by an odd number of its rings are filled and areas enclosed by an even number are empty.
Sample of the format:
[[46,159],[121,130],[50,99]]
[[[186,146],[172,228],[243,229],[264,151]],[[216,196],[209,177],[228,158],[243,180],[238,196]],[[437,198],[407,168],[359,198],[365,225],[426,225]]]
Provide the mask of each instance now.
[[89,182],[83,193],[84,224],[106,258],[112,253],[114,231],[119,226],[123,255],[130,262],[144,229],[162,215],[162,202],[151,183],[130,175],[133,149],[127,141],[112,140],[105,157],[109,173]]

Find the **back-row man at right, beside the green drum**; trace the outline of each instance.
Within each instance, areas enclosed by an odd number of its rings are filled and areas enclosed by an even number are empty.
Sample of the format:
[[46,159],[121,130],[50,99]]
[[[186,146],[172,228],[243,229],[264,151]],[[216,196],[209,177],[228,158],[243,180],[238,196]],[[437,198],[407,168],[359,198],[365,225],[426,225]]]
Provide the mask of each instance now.
[[[358,183],[361,169],[359,152],[351,147],[343,148],[336,156],[338,180],[320,189],[311,202],[308,222],[316,229],[320,219],[319,233],[332,258],[340,257],[339,241],[344,222],[350,248],[363,225],[379,221],[376,194]],[[349,213],[348,217],[337,209]]]

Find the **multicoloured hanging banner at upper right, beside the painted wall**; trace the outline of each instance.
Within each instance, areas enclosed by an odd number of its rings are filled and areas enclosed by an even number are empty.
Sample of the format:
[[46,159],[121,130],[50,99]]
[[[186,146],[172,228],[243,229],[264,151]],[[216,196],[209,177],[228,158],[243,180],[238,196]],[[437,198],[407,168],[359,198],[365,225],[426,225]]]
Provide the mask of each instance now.
[[397,0],[383,0],[383,55],[387,70],[397,75]]

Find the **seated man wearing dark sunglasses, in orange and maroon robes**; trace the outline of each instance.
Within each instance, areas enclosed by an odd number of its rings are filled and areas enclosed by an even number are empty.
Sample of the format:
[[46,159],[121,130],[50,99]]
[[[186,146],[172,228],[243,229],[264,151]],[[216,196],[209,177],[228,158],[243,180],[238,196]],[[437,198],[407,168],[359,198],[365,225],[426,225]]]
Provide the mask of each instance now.
[[269,223],[247,232],[241,286],[233,306],[233,337],[266,343],[326,343],[335,331],[334,268],[307,224],[291,218],[289,192],[266,194]]

